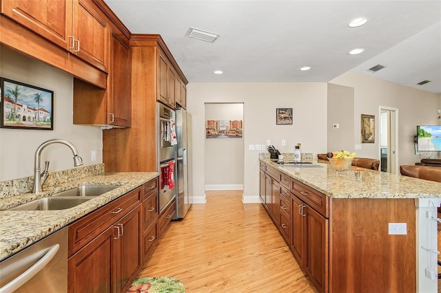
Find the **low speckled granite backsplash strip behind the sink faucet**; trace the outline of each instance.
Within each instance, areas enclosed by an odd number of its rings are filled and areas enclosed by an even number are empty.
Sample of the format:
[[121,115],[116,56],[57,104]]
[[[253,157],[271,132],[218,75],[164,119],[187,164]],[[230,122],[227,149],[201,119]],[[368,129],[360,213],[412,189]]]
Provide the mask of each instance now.
[[[50,172],[48,179],[43,184],[43,188],[45,186],[54,186],[72,180],[79,180],[85,177],[103,174],[104,164],[94,164],[91,166]],[[34,186],[34,176],[0,182],[0,199],[23,193],[30,193],[32,191],[32,186]]]

